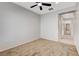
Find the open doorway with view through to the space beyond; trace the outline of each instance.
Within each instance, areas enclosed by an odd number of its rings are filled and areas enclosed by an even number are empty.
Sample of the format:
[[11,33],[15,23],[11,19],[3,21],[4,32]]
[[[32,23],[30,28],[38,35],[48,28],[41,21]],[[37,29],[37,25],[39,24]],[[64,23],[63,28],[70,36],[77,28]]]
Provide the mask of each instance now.
[[73,21],[75,20],[75,11],[69,11],[59,14],[58,20],[58,39],[67,44],[74,44],[73,39]]

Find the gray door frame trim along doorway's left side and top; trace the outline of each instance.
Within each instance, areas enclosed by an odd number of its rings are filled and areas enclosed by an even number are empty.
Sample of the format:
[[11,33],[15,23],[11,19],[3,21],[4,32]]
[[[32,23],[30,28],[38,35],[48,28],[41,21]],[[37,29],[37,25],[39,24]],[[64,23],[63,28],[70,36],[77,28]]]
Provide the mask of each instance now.
[[76,10],[68,11],[68,12],[62,12],[58,14],[58,39],[62,39],[62,15],[68,14],[68,13],[74,13],[75,16]]

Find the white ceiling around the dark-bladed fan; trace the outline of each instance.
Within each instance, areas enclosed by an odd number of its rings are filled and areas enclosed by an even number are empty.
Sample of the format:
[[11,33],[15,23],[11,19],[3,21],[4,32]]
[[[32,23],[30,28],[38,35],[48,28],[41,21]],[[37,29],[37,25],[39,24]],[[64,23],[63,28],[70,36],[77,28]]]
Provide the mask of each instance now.
[[[75,2],[60,2],[58,4],[56,4],[55,2],[48,2],[48,3],[51,3],[52,4],[52,7],[54,8],[54,10],[51,10],[49,11],[48,9],[50,7],[46,7],[46,6],[43,6],[43,10],[40,11],[39,7],[36,6],[34,8],[30,8],[30,6],[32,5],[35,5],[36,3],[35,2],[14,2],[32,12],[35,12],[37,14],[45,14],[45,13],[48,13],[48,12],[53,12],[53,11],[57,11],[57,10],[61,10],[61,9],[64,9],[64,8],[68,8],[68,7],[72,7],[72,6],[75,6],[76,3]],[[47,2],[46,2],[47,3]]]

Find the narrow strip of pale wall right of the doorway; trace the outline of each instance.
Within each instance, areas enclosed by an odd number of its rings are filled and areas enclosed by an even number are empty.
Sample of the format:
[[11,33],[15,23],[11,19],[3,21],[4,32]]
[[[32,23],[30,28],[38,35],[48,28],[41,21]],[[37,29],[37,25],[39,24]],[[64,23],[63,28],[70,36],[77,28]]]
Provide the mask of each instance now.
[[76,5],[76,20],[74,25],[74,41],[77,48],[77,51],[79,53],[79,3]]

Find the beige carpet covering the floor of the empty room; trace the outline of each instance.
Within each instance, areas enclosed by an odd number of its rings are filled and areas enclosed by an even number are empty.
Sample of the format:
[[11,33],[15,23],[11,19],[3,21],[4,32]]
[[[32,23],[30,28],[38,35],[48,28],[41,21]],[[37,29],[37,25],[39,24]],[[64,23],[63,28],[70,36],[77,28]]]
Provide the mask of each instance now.
[[2,56],[77,56],[74,45],[38,39],[30,43],[0,52]]

